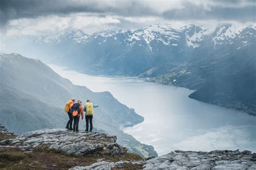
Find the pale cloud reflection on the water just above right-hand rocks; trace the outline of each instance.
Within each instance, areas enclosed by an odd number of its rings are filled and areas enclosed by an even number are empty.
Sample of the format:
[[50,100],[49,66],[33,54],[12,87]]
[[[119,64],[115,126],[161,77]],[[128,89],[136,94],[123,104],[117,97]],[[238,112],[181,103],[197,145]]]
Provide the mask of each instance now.
[[250,150],[255,152],[254,125],[223,126],[205,134],[188,138],[173,147],[185,151]]

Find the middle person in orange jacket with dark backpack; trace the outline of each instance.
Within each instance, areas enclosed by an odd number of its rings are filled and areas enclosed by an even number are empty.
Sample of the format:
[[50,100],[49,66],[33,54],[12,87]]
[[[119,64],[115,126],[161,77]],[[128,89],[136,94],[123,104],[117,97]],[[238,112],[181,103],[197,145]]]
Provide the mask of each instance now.
[[71,112],[72,112],[72,117],[73,117],[73,131],[78,130],[78,123],[80,119],[80,115],[82,116],[82,120],[84,118],[84,112],[83,112],[83,107],[82,107],[82,101],[78,100],[77,103],[70,104],[71,107]]

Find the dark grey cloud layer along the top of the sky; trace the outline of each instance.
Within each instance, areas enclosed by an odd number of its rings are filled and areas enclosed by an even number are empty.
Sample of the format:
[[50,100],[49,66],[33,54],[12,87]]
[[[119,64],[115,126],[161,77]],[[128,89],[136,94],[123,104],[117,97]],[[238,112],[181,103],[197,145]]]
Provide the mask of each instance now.
[[[255,0],[2,0],[0,3],[1,24],[6,24],[11,19],[35,18],[45,15],[70,15],[70,13],[77,12],[123,17],[166,17],[166,14],[176,14],[173,16],[178,16],[178,19],[194,19],[196,17],[205,19],[209,16],[222,20],[232,18],[240,21],[239,15],[248,16],[251,19],[254,15],[255,19]],[[219,15],[219,12],[223,15]],[[180,17],[181,15],[183,17]]]

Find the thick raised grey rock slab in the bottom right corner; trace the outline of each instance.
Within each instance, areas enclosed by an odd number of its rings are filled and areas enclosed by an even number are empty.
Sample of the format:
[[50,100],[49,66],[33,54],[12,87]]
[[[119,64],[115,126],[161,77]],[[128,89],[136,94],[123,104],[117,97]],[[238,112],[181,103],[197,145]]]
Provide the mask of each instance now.
[[[251,169],[255,168],[255,154],[250,151],[175,151],[144,161],[145,169]],[[231,155],[240,158],[230,159]],[[243,161],[241,161],[243,160]]]

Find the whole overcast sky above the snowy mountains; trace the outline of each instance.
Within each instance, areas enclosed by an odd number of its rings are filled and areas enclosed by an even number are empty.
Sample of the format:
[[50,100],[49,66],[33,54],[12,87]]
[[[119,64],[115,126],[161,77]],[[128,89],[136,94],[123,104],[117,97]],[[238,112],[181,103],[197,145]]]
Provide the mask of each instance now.
[[154,23],[255,23],[256,0],[1,0],[2,34],[93,33]]

